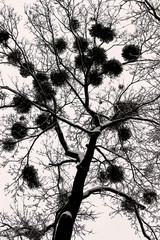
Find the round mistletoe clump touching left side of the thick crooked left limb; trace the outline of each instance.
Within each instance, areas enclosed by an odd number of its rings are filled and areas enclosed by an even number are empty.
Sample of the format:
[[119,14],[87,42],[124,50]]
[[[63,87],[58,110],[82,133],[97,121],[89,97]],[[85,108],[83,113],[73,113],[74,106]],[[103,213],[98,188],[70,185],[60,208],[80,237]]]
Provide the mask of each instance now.
[[38,115],[35,123],[40,129],[45,130],[53,124],[53,121],[51,120],[51,115],[42,113]]

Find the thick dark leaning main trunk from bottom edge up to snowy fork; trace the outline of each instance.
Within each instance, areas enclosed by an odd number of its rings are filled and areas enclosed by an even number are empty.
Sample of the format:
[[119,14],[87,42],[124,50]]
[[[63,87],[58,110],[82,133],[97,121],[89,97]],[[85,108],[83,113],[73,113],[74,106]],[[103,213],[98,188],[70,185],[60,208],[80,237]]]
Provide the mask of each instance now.
[[83,187],[85,179],[89,171],[91,160],[93,158],[98,136],[99,133],[96,132],[90,138],[90,142],[88,144],[88,149],[86,151],[84,159],[81,161],[80,165],[77,168],[77,173],[74,179],[69,201],[64,207],[64,209],[61,211],[61,213],[57,216],[57,224],[53,233],[52,240],[71,239],[73,225],[83,199]]

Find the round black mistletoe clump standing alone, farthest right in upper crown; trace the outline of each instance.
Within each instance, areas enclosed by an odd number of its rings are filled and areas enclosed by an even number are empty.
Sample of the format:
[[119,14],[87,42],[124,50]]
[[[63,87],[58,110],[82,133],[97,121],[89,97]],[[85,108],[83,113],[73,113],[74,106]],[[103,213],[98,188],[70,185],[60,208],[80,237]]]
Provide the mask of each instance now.
[[122,57],[126,61],[135,61],[139,58],[140,55],[141,49],[137,45],[134,44],[126,45],[122,49]]

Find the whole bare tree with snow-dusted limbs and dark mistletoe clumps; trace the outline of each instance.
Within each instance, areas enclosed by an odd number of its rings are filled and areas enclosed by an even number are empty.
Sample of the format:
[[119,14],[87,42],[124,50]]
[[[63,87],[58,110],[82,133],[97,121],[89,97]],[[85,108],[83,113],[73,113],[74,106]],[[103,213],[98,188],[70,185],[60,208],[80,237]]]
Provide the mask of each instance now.
[[99,194],[137,232],[157,240],[154,4],[38,0],[25,13],[29,40],[3,3],[1,64],[17,69],[18,79],[1,79],[1,165],[13,176],[7,190],[24,205],[14,216],[1,214],[0,235],[69,240],[85,231],[80,221],[94,216],[85,200]]

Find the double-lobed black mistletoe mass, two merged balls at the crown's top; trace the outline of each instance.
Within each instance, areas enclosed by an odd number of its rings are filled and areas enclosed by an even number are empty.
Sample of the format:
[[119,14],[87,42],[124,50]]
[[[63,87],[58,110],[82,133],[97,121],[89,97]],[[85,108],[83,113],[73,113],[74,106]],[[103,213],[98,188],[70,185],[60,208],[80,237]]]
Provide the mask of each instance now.
[[89,32],[92,37],[97,37],[106,43],[113,41],[116,36],[113,29],[110,27],[104,27],[101,23],[93,24]]

